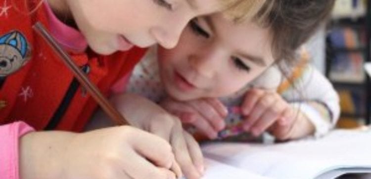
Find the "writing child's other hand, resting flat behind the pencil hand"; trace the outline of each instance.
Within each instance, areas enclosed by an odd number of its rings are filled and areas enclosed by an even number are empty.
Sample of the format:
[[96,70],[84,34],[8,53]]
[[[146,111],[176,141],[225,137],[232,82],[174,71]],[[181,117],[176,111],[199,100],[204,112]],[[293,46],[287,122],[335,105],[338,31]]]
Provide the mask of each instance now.
[[187,179],[198,179],[204,172],[203,156],[196,140],[182,127],[181,121],[136,94],[124,94],[113,99],[131,125],[156,134],[172,145],[176,161]]

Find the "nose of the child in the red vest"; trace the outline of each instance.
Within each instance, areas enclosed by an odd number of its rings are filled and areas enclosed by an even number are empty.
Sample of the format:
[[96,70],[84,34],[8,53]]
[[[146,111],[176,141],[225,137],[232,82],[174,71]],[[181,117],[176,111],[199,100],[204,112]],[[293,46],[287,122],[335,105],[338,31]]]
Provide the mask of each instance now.
[[150,34],[164,48],[174,48],[189,20],[183,17],[171,19],[171,21],[163,22],[161,26],[151,28]]

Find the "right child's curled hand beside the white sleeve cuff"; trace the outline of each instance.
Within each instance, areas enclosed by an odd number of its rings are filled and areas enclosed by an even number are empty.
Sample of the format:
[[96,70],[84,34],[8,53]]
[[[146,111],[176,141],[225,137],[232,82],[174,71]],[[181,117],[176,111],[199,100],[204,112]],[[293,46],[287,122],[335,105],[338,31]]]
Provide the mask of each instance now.
[[243,128],[258,136],[269,131],[279,140],[299,138],[313,133],[305,115],[293,109],[276,91],[251,89],[241,106]]

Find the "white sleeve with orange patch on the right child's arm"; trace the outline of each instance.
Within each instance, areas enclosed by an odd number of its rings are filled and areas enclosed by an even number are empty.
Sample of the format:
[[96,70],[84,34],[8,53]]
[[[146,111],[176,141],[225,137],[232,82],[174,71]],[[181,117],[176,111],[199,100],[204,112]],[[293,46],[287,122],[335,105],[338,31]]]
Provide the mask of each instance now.
[[311,120],[315,136],[322,136],[335,126],[340,115],[338,94],[315,67],[305,64],[294,68],[278,92]]

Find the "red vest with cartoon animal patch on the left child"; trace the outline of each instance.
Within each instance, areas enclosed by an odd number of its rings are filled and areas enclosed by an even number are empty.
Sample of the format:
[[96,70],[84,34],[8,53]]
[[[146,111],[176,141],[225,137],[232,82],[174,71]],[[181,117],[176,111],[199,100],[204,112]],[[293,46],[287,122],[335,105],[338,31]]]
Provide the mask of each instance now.
[[[0,8],[0,71],[6,72],[1,68],[11,63],[14,68],[16,60],[22,58],[22,55],[26,59],[27,50],[31,55],[16,72],[2,77],[0,103],[6,105],[0,108],[0,124],[22,120],[37,130],[47,127],[81,131],[97,104],[89,93],[84,92],[55,52],[32,29],[36,21],[46,27],[48,24],[44,6],[27,14],[35,6],[31,1],[0,0],[0,6],[3,5]],[[9,33],[16,36],[10,36]],[[25,48],[27,45],[30,48]],[[109,56],[93,52],[71,56],[79,66],[89,67],[90,80],[108,96],[113,84],[133,69],[144,51],[133,48]]]

